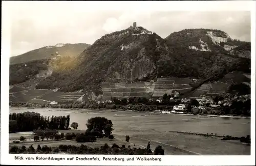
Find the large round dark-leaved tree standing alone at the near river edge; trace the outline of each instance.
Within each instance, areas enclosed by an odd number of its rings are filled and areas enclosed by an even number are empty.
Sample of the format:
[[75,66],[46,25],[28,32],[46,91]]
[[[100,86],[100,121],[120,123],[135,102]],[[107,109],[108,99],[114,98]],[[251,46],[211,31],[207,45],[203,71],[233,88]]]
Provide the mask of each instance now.
[[88,131],[94,131],[95,133],[105,136],[109,136],[114,130],[111,120],[105,117],[92,117],[88,120],[86,124]]

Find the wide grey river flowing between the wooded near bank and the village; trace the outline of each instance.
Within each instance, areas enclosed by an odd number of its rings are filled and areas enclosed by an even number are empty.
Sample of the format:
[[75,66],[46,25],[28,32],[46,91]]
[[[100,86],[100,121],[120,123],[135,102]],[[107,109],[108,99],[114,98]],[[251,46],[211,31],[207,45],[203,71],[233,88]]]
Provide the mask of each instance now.
[[78,130],[86,130],[87,120],[103,116],[112,120],[116,137],[131,136],[135,144],[146,146],[161,145],[166,152],[177,154],[202,155],[250,155],[250,146],[239,141],[221,140],[215,136],[199,136],[168,131],[195,132],[213,135],[231,135],[242,137],[250,135],[250,118],[207,117],[150,114],[145,112],[62,108],[16,108],[10,107],[10,113],[38,112],[43,116],[60,116],[70,114],[70,123],[77,122]]

